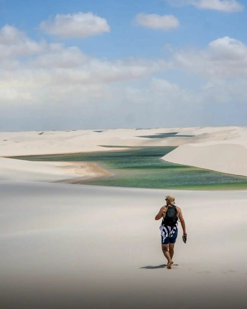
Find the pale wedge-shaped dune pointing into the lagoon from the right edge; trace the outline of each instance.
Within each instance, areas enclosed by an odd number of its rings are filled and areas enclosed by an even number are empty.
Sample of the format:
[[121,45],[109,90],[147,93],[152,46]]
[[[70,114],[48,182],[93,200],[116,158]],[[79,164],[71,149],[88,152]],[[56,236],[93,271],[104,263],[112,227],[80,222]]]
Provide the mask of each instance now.
[[[195,131],[189,131],[190,133]],[[208,134],[208,133],[207,133]],[[215,133],[214,133],[215,134]],[[184,144],[161,159],[228,174],[247,176],[247,129],[236,128],[210,136],[197,135],[195,143]]]

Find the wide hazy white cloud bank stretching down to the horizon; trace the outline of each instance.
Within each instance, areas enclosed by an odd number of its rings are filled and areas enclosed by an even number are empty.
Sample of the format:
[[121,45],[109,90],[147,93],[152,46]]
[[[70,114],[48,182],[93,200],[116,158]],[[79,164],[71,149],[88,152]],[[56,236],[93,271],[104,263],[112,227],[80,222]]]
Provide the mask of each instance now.
[[[204,106],[232,102],[241,110],[238,115],[244,115],[247,46],[229,37],[201,50],[170,48],[170,60],[155,61],[100,59],[76,46],[37,42],[8,25],[0,29],[0,46],[5,55],[0,58],[2,129],[37,129],[38,123],[45,129],[162,126],[167,119],[171,126],[174,121],[181,126],[202,125]],[[183,68],[186,74],[192,71],[208,81],[201,88],[191,83],[188,89],[152,77],[173,68]],[[10,124],[13,115],[19,121]]]

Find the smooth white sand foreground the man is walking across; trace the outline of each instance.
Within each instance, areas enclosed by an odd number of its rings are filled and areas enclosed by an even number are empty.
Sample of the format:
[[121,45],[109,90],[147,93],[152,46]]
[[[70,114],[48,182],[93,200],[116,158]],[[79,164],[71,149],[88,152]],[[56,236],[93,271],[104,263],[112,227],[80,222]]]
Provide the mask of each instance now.
[[[173,193],[179,223],[165,268],[155,215]],[[247,191],[1,182],[1,307],[244,309]]]

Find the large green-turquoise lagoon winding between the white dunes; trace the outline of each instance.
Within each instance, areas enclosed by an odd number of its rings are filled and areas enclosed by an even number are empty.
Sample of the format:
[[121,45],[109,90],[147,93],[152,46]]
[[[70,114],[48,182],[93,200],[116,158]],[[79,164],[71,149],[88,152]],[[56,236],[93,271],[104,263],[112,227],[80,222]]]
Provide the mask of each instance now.
[[[247,189],[247,177],[167,163],[160,158],[176,147],[132,147],[129,150],[19,157],[31,161],[87,161],[114,173],[83,184],[173,189]],[[16,159],[17,157],[15,157]]]

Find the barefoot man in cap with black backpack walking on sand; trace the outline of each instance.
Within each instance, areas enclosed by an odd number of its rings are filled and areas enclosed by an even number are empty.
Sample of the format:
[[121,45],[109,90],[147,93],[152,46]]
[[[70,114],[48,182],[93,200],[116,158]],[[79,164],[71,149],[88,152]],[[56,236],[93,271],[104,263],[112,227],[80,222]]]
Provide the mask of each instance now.
[[185,222],[182,216],[182,211],[178,206],[175,206],[174,195],[168,195],[165,197],[166,206],[162,206],[160,211],[155,217],[155,220],[159,220],[163,217],[160,231],[161,231],[161,248],[167,258],[167,269],[171,269],[173,264],[174,244],[178,236],[178,219],[181,222],[183,229],[183,236],[186,237]]

